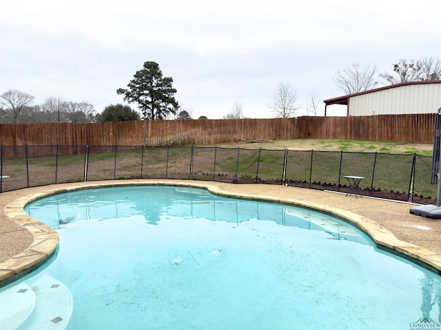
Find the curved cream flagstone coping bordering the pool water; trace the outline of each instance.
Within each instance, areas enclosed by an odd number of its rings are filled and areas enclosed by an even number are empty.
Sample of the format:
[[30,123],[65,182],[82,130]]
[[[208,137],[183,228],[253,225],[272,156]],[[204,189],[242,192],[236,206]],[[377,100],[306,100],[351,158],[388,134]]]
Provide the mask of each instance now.
[[106,186],[133,185],[163,185],[206,188],[216,195],[261,201],[273,201],[277,203],[285,203],[293,206],[303,206],[306,208],[327,212],[336,217],[339,217],[340,219],[344,219],[349,223],[352,223],[357,228],[360,228],[360,230],[368,234],[371,239],[373,239],[378,248],[396,253],[419,265],[427,267],[429,270],[432,270],[437,274],[441,274],[440,254],[431,250],[427,250],[426,248],[421,248],[418,245],[401,241],[400,239],[397,239],[392,232],[385,228],[382,228],[382,226],[376,223],[376,221],[372,221],[367,217],[363,217],[359,214],[347,210],[342,210],[312,201],[291,199],[289,197],[271,197],[268,195],[226,191],[222,188],[219,188],[211,181],[134,179],[117,181],[89,181],[69,184],[67,187],[63,185],[63,187],[50,188],[48,190],[45,190],[44,192],[37,192],[30,195],[25,195],[8,203],[4,208],[6,216],[18,225],[21,225],[23,228],[28,230],[34,236],[34,240],[27,250],[0,263],[0,287],[3,286],[1,285],[3,281],[6,282],[6,280],[11,280],[14,276],[19,275],[21,272],[30,270],[32,267],[43,263],[54,253],[55,250],[57,250],[57,246],[59,243],[59,234],[57,233],[57,231],[25,213],[25,205],[34,201],[35,199],[39,199],[48,195],[58,194],[61,192]]

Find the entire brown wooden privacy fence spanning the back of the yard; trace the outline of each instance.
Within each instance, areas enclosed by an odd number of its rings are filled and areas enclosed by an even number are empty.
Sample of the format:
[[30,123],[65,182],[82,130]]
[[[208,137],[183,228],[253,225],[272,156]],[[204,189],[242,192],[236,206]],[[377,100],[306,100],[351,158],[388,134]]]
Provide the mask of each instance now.
[[[182,146],[244,139],[337,138],[433,143],[435,113],[240,120],[0,124],[3,146]],[[7,157],[7,155],[5,155]]]

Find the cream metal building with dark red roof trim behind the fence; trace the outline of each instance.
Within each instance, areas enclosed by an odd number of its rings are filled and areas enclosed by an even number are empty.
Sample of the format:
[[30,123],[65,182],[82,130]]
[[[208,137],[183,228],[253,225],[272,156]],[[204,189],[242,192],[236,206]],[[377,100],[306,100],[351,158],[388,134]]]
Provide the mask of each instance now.
[[324,100],[347,106],[347,115],[435,113],[441,106],[441,80],[412,81]]

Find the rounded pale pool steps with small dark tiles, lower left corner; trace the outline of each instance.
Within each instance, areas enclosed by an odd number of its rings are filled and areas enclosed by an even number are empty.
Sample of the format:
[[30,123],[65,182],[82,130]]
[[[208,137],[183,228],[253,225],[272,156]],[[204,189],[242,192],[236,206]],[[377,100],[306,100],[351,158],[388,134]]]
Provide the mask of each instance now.
[[[24,291],[26,290],[26,291]],[[0,329],[66,329],[72,315],[72,294],[68,287],[48,274],[0,294],[8,313],[0,316]],[[23,294],[28,293],[28,296]]]

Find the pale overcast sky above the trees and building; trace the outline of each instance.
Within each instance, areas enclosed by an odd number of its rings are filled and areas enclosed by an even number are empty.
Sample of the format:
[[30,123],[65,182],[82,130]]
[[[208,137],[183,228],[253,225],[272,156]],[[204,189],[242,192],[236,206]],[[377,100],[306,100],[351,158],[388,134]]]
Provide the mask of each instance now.
[[145,61],[174,79],[193,118],[218,119],[236,103],[247,118],[275,117],[280,83],[298,105],[318,94],[323,115],[322,100],[344,95],[338,69],[391,72],[402,58],[441,56],[440,0],[14,0],[0,15],[0,94],[84,100],[97,112],[124,104],[116,89]]

